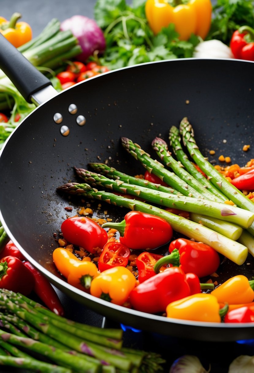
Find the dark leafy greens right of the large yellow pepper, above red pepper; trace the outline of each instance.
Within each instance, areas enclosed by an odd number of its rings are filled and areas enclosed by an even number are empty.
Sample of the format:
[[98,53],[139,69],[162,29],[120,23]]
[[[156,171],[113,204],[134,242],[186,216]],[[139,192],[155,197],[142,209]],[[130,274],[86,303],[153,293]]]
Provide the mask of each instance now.
[[206,40],[218,39],[229,45],[233,32],[243,25],[254,26],[252,0],[217,0]]

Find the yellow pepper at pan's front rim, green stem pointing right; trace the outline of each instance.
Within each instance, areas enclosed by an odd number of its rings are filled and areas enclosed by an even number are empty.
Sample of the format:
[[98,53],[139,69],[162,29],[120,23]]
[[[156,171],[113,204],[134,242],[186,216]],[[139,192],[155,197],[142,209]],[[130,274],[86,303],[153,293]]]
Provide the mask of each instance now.
[[167,317],[181,320],[220,323],[227,306],[220,309],[216,297],[211,294],[194,294],[169,303],[166,307]]

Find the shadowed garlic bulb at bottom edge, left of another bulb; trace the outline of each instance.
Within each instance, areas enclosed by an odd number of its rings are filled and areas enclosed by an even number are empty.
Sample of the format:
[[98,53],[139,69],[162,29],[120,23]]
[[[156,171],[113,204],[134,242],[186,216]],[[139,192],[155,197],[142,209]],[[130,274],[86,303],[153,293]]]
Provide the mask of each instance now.
[[209,373],[204,369],[199,358],[194,355],[183,355],[174,361],[169,373]]

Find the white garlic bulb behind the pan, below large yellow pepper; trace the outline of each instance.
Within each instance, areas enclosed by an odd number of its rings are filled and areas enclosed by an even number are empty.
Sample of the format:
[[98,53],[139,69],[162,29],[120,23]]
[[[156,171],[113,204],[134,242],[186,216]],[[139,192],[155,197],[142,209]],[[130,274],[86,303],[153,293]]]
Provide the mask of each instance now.
[[212,39],[201,41],[193,53],[196,58],[234,58],[231,49],[222,41]]

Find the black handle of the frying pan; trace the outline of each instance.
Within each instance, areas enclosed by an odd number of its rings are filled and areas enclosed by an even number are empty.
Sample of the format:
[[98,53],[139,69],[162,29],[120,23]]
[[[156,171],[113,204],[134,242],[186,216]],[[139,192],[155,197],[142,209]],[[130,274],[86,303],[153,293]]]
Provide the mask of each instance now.
[[19,50],[0,34],[0,68],[13,82],[25,100],[32,103],[31,96],[51,84]]

